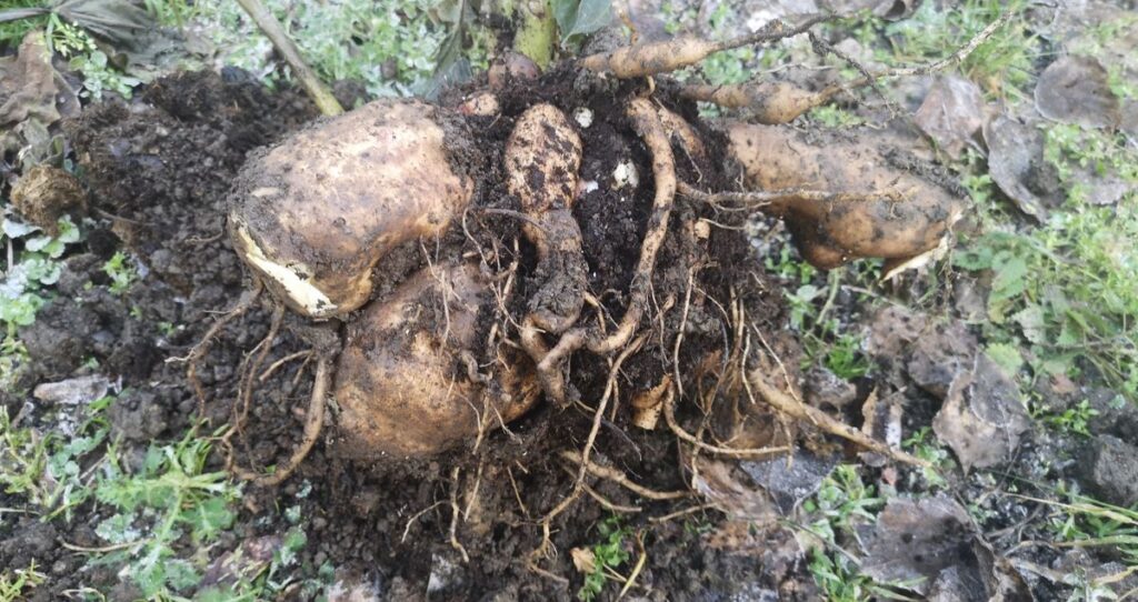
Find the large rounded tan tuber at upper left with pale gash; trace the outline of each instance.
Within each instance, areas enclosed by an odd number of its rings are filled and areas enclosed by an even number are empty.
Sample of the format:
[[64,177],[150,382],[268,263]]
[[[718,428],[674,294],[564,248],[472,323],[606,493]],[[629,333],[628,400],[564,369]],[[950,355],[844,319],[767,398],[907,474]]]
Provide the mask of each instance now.
[[473,182],[447,163],[448,135],[462,133],[413,100],[371,102],[300,131],[241,171],[234,249],[299,314],[358,308],[388,250],[445,231],[470,203]]

